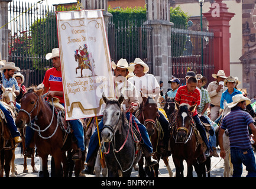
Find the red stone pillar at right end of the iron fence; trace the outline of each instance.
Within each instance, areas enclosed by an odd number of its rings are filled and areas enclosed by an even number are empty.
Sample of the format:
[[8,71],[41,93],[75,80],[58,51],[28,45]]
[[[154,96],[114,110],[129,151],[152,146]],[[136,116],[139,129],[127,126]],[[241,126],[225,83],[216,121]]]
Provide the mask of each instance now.
[[230,75],[230,52],[229,52],[229,21],[234,13],[228,12],[228,7],[222,0],[216,0],[210,7],[210,11],[203,13],[209,22],[209,31],[214,32],[213,38],[213,61],[214,73],[224,70],[226,76]]

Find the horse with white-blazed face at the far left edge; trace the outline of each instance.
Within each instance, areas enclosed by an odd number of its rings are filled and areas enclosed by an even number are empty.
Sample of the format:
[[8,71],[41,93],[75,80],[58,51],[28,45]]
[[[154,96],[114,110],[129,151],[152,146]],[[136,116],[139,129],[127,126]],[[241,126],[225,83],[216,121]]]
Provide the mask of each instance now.
[[[15,108],[16,108],[16,94],[14,93],[15,86],[13,85],[12,88],[11,87],[8,87],[8,88],[2,87],[2,90],[3,90],[2,101],[7,103],[8,105],[10,105],[15,112]],[[16,112],[15,112],[15,115],[16,115]],[[23,154],[24,154],[25,149],[26,149],[25,148],[25,128],[18,129],[18,131],[20,131],[20,133],[21,133],[22,149],[23,149]],[[16,175],[17,175],[17,171],[15,171],[14,159],[15,159],[15,152],[12,156],[12,161],[11,161],[11,167],[12,167],[11,168],[11,172],[12,172],[11,177],[16,177]],[[28,172],[27,157],[24,157],[23,167],[24,167],[23,172],[24,173]],[[33,157],[31,158],[31,167],[33,169],[33,172],[38,172],[37,168],[35,167],[34,154],[33,154]]]

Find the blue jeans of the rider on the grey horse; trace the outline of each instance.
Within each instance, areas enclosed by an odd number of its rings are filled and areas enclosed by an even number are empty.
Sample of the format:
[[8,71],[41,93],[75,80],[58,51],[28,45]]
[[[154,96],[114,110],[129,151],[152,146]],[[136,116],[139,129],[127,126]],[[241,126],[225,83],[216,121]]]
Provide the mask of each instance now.
[[[129,115],[130,115],[130,113],[127,112],[126,113],[127,120],[129,120]],[[142,125],[140,123],[140,121],[134,115],[132,115],[132,117],[133,117],[132,124],[134,125],[134,121],[137,123],[138,128],[139,128],[140,133],[141,133],[141,138],[144,141],[145,148],[147,148],[148,152],[153,153],[153,147],[152,147],[152,144],[150,142],[150,137],[148,136],[147,129],[145,128],[144,125]],[[99,122],[99,133],[100,134],[103,130],[103,126],[104,126],[103,125],[103,120],[101,119],[101,121]],[[93,153],[98,148],[99,148],[99,139],[98,139],[98,132],[97,132],[97,128],[96,128],[95,131],[93,132],[92,136],[90,137],[90,142],[89,142],[89,146],[88,146],[88,154],[87,154],[85,162],[89,162]]]

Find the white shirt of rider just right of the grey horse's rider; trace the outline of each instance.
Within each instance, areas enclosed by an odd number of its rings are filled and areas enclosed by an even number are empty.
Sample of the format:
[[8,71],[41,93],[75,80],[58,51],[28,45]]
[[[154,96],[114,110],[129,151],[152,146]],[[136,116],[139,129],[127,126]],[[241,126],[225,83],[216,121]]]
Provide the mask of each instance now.
[[[142,92],[145,96],[147,96],[147,94],[145,94],[147,90],[152,91],[157,87],[160,88],[157,82],[157,79],[155,79],[155,76],[153,76],[153,74],[148,74],[148,73],[146,73],[144,76],[141,76],[141,77],[138,77],[135,75],[129,78],[129,82],[134,84],[137,90],[138,99],[140,103],[142,102],[142,97],[140,92]],[[151,95],[151,96],[154,97],[155,95]]]

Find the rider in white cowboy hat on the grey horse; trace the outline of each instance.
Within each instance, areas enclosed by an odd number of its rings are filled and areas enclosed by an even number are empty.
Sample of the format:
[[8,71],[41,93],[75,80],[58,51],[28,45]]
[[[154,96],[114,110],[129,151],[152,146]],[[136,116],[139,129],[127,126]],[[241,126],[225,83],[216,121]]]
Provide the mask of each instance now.
[[[129,72],[132,72],[134,70],[133,66],[129,66],[127,61],[125,59],[122,59],[118,61],[117,64],[112,62],[112,68],[114,69],[115,73],[115,95],[116,97],[119,97],[121,94],[124,95],[124,102],[122,103],[123,106],[125,106],[124,109],[129,110],[126,113],[127,119],[129,120],[130,112],[135,112],[135,110],[138,109],[138,96],[136,89],[134,85],[125,79],[125,76],[128,75]],[[117,80],[118,79],[118,80]],[[120,80],[119,80],[120,79]],[[134,106],[131,106],[131,103],[134,104]],[[131,107],[130,107],[131,106]],[[157,164],[157,161],[151,160],[151,154],[153,153],[153,147],[150,142],[150,138],[148,136],[147,129],[144,125],[142,125],[137,118],[135,118],[134,115],[132,119],[132,124],[134,122],[137,123],[138,128],[140,129],[141,137],[144,141],[145,148],[142,148],[145,157],[147,157],[148,165],[152,166]],[[103,129],[103,122],[99,122],[99,132],[101,133]],[[92,162],[92,155],[95,152],[96,149],[99,148],[99,141],[98,141],[98,132],[97,129],[95,129],[95,132],[90,138],[89,147],[88,147],[88,155],[86,157],[86,163],[88,163],[85,170],[83,170],[83,173],[86,174],[92,174],[93,172],[93,162]],[[146,151],[145,151],[146,149]]]

